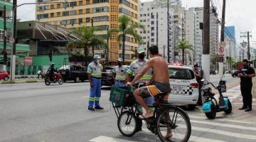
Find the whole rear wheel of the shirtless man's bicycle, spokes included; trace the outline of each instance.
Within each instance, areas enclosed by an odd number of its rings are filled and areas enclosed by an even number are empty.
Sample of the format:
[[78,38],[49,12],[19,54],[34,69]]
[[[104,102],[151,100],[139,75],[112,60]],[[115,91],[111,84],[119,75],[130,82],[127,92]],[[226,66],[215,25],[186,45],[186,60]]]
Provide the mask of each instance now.
[[169,107],[161,111],[156,117],[156,131],[162,142],[188,141],[191,136],[191,122],[188,114],[178,107]]

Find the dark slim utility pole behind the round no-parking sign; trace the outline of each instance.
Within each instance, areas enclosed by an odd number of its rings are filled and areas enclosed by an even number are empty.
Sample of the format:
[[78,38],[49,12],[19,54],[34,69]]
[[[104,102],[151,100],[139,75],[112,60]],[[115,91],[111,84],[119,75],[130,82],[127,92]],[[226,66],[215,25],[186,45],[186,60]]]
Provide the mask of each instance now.
[[[222,13],[222,18],[221,18],[221,31],[220,31],[220,42],[224,43],[224,33],[225,33],[225,0],[223,0],[223,13]],[[219,59],[219,76],[220,79],[223,77],[223,62],[224,62],[224,57],[220,57]]]

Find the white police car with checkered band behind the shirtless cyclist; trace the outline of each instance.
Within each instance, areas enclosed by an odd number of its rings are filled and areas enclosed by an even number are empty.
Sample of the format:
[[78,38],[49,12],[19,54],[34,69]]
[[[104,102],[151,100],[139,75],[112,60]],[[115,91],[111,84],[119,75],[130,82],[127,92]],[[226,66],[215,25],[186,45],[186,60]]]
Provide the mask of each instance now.
[[169,78],[172,90],[168,102],[176,106],[188,105],[189,109],[195,109],[199,97],[199,84],[193,69],[181,65],[169,65]]

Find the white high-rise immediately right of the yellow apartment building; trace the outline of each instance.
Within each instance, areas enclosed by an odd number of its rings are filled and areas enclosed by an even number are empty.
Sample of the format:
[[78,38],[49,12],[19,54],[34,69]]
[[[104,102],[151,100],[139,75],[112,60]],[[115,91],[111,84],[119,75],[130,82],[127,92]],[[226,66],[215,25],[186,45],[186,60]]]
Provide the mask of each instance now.
[[[174,54],[174,33],[173,33],[173,18],[174,13],[172,9],[169,9],[169,21],[168,21],[168,9],[159,1],[142,2],[139,9],[139,22],[142,23],[146,31],[141,30],[140,34],[144,40],[141,45],[144,47],[149,45],[157,45],[159,47],[159,53],[168,60],[168,52],[170,55],[170,61],[173,61]],[[169,27],[168,27],[169,22]],[[168,39],[169,28],[169,39]],[[169,51],[168,51],[169,40]]]

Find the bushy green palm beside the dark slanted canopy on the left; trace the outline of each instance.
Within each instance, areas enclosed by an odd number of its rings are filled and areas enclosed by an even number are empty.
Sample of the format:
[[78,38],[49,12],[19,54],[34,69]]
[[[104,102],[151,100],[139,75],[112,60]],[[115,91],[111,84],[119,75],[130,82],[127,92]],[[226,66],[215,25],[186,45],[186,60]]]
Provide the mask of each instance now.
[[[78,35],[80,40],[73,40],[68,43],[68,48],[84,48],[85,58],[88,57],[89,48],[92,47],[92,56],[94,55],[94,47],[97,45],[106,45],[105,40],[95,35],[96,28],[82,26],[75,28],[71,33]],[[87,59],[86,59],[87,65]]]

